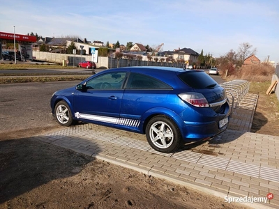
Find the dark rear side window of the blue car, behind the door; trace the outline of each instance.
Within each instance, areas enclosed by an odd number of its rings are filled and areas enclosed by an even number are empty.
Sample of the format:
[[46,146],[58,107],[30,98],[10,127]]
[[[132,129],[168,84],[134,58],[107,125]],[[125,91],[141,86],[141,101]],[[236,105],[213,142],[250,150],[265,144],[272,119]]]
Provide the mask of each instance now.
[[130,89],[171,89],[172,87],[161,82],[160,80],[149,77],[147,75],[142,75],[138,73],[133,73],[130,76],[128,82],[128,88]]

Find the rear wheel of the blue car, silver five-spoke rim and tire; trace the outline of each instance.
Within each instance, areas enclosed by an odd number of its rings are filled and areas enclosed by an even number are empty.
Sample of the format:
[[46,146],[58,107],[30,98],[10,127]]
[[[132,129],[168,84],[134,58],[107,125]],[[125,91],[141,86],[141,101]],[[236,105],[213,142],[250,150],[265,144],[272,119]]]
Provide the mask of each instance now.
[[179,127],[164,115],[151,118],[146,125],[146,139],[154,150],[162,153],[175,152],[182,141]]

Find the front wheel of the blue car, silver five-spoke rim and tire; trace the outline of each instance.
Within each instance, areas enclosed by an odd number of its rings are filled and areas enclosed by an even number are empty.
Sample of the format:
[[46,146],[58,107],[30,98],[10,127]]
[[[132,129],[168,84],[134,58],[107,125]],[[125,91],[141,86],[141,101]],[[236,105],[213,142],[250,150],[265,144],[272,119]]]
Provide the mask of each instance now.
[[70,107],[65,101],[60,101],[55,105],[54,116],[60,125],[70,126],[74,123]]

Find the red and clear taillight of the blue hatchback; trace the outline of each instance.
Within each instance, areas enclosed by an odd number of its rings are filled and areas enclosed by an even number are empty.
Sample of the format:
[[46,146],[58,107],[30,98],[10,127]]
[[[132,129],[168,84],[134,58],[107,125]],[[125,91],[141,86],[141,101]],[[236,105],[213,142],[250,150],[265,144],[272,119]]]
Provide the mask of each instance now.
[[209,107],[209,102],[201,93],[180,93],[179,98],[195,107]]

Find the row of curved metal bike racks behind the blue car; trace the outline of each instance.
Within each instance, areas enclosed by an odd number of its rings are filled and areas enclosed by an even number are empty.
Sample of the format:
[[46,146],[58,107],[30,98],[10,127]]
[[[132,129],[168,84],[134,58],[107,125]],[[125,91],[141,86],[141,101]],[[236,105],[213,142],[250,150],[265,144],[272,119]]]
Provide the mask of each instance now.
[[236,114],[236,109],[243,102],[245,95],[249,91],[250,83],[246,80],[233,80],[220,84],[220,86],[223,86],[227,91],[233,114]]

